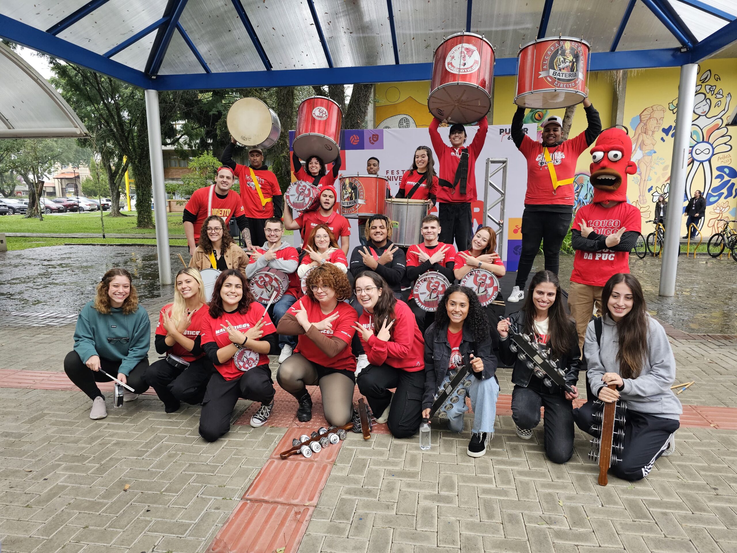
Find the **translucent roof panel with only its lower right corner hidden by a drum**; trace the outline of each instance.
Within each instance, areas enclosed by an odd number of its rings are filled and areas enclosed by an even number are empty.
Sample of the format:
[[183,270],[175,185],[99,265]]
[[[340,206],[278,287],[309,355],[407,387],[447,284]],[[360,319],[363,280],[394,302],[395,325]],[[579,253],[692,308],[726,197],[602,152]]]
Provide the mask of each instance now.
[[399,63],[433,61],[443,37],[466,29],[466,0],[394,1]]

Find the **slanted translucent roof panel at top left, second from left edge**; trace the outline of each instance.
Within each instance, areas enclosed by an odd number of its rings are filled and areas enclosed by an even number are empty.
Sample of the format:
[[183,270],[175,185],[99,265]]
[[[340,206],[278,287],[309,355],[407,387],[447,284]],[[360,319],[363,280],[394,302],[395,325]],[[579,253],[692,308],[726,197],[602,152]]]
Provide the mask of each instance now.
[[57,36],[97,54],[104,54],[161,19],[167,0],[108,1]]

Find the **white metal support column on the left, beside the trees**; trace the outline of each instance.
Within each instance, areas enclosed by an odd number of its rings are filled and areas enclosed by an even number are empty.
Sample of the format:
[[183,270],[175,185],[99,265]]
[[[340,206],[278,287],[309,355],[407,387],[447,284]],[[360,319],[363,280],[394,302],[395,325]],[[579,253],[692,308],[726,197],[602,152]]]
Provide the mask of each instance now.
[[[167,192],[164,189],[164,156],[161,154],[161,116],[158,113],[158,91],[147,90],[145,94],[148,149],[151,159],[151,187],[153,189],[153,215],[156,222],[158,280],[161,284],[171,284],[172,266],[169,257]],[[139,209],[142,207],[145,206],[139,206]]]

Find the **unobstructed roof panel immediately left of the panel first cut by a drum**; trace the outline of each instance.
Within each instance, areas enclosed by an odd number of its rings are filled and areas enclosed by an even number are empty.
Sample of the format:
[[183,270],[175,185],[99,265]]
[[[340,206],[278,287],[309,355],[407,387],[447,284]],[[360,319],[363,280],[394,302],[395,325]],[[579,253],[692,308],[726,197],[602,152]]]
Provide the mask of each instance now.
[[315,12],[333,66],[394,63],[386,0],[315,0]]

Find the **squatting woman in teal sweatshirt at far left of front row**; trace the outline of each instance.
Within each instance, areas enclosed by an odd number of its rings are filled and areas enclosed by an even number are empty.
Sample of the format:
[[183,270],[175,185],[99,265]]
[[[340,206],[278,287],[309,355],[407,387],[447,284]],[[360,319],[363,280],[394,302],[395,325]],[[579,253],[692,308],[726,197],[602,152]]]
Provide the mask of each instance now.
[[[351,319],[354,320],[354,319]],[[74,349],[64,358],[64,372],[92,400],[90,418],[108,416],[105,396],[97,382],[111,382],[111,375],[128,386],[123,401],[133,401],[148,389],[145,379],[151,323],[139,305],[133,277],[114,268],[102,275],[94,300],[87,302],[77,317]]]

